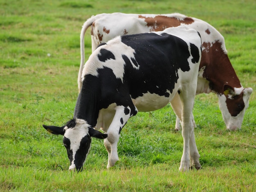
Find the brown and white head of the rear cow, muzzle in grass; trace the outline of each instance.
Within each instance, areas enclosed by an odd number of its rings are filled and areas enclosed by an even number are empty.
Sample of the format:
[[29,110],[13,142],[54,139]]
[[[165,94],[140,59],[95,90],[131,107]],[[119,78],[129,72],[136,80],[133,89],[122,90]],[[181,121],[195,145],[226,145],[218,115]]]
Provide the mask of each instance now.
[[220,110],[227,130],[235,131],[241,128],[245,110],[249,107],[252,88],[232,88],[224,85],[223,89],[223,94],[218,94]]

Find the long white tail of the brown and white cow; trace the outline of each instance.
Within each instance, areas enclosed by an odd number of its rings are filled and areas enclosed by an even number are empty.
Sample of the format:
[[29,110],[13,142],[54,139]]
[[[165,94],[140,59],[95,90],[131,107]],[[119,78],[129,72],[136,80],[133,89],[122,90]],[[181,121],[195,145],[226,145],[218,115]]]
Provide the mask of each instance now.
[[84,36],[85,36],[85,32],[88,29],[88,27],[90,27],[92,25],[92,23],[97,20],[98,18],[101,17],[101,14],[96,15],[96,16],[92,16],[91,18],[89,18],[88,20],[86,20],[83,24],[81,33],[80,33],[80,53],[81,53],[81,63],[80,63],[80,68],[79,68],[79,73],[78,73],[78,79],[77,79],[77,83],[78,83],[78,89],[79,92],[82,88],[82,72],[83,72],[83,65],[85,63],[85,51],[84,51]]

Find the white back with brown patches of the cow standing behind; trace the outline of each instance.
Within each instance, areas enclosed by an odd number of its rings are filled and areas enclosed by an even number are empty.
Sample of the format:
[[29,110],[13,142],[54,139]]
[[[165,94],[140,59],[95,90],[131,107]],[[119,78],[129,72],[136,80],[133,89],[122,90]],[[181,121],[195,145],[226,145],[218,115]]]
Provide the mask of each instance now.
[[213,26],[203,20],[187,17],[180,13],[162,15],[125,13],[104,14],[94,21],[91,35],[92,40],[99,45],[101,42],[107,42],[116,36],[163,31],[168,27],[177,27],[180,25],[187,25],[200,33],[202,43],[206,43],[206,47],[204,47],[203,50],[207,49],[207,46],[209,46],[207,45],[207,42],[211,44],[215,41],[220,41],[222,42],[221,46],[223,51],[227,53],[224,38]]

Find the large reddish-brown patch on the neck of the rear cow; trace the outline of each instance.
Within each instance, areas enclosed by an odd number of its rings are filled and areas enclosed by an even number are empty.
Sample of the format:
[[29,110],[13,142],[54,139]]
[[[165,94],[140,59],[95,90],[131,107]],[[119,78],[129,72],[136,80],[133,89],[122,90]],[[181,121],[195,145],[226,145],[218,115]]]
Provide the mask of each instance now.
[[202,44],[204,48],[213,46],[211,49],[203,49],[200,63],[200,68],[205,66],[203,77],[209,81],[209,88],[217,94],[223,94],[224,85],[229,85],[233,88],[241,87],[240,80],[227,54],[221,48],[221,43],[205,44]]

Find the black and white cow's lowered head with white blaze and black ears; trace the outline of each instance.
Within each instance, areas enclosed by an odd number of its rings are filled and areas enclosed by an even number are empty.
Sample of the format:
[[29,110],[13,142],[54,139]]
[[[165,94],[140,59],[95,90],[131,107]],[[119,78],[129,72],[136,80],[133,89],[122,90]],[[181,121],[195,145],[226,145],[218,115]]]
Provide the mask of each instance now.
[[86,121],[74,118],[67,122],[63,127],[46,126],[43,127],[52,134],[61,134],[63,144],[67,149],[67,156],[70,160],[69,170],[80,171],[83,169],[85,159],[90,152],[91,137],[107,138],[103,134],[86,123]]

